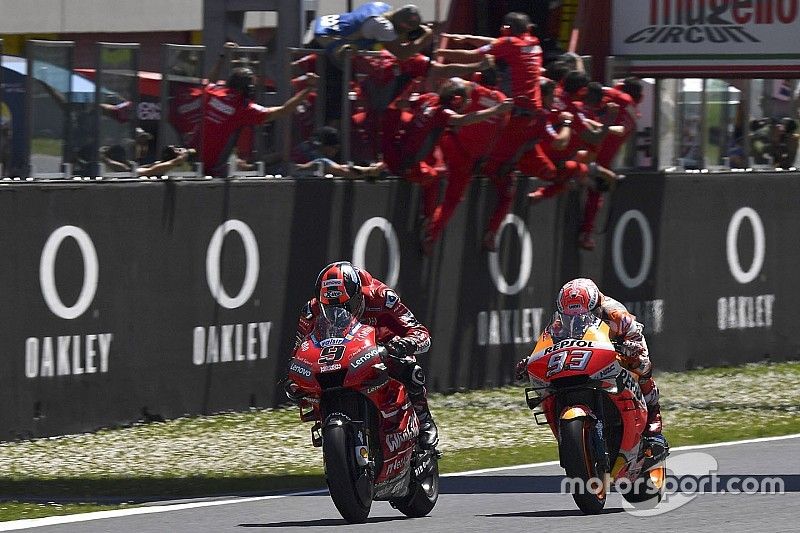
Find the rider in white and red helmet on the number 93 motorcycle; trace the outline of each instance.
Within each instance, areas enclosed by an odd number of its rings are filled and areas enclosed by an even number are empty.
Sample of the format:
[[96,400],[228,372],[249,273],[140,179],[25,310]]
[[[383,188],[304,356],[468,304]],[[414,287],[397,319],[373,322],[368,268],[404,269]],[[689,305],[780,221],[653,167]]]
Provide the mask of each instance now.
[[[662,435],[661,406],[656,382],[653,380],[653,364],[647,349],[647,342],[642,334],[643,326],[636,317],[628,312],[624,305],[610,296],[604,295],[594,281],[588,278],[577,278],[567,282],[558,292],[556,306],[559,313],[567,316],[592,313],[608,324],[611,340],[617,345],[621,364],[639,377],[639,386],[647,404],[647,424],[643,437],[651,444],[658,444],[668,449],[667,441]],[[546,331],[553,337],[559,336],[560,319],[555,319]],[[526,357],[516,367],[517,379],[527,376]]]

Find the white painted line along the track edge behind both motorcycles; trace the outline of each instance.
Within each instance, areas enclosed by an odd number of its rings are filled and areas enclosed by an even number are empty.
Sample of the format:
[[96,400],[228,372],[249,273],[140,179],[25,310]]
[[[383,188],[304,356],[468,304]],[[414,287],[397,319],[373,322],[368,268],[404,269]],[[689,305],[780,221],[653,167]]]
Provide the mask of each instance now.
[[[692,446],[678,446],[676,448],[671,448],[670,451],[700,450],[703,448],[718,448],[721,446],[736,446],[738,444],[754,444],[758,442],[772,442],[777,440],[788,440],[796,438],[800,438],[800,433],[795,433],[793,435],[782,435],[779,437],[761,437],[757,439],[717,442],[714,444],[696,444]],[[529,463],[525,465],[501,466],[498,468],[482,468],[480,470],[468,470],[466,472],[453,472],[450,474],[442,474],[442,477],[470,476],[474,474],[503,472],[507,470],[524,470],[526,468],[539,468],[543,466],[554,466],[557,464],[558,461],[544,461],[541,463]],[[177,503],[177,504],[156,505],[147,507],[133,507],[130,509],[115,509],[113,511],[96,511],[92,513],[79,513],[66,516],[48,516],[46,518],[30,518],[25,520],[14,520],[12,522],[0,522],[0,531],[16,531],[19,529],[30,529],[35,527],[54,526],[59,524],[72,524],[75,522],[88,522],[90,520],[101,520],[104,518],[118,518],[122,516],[133,516],[140,514],[183,511],[185,509],[196,509],[198,507],[214,507],[217,505],[229,505],[233,503],[277,500],[281,498],[291,498],[292,496],[313,496],[316,494],[325,494],[326,492],[328,492],[327,489],[317,489],[317,490],[307,490],[302,492],[290,492],[286,494],[275,494],[273,496],[252,496],[252,497],[232,498],[228,500],[194,501],[190,503]]]

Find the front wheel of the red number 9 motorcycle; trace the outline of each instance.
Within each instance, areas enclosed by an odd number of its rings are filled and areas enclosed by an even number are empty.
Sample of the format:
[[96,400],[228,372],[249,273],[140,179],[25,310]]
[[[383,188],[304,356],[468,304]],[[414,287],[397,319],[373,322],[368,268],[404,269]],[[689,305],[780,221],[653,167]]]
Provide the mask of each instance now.
[[322,437],[331,499],[342,518],[351,524],[362,524],[372,506],[372,480],[356,465],[351,429],[345,424],[331,424],[323,429]]

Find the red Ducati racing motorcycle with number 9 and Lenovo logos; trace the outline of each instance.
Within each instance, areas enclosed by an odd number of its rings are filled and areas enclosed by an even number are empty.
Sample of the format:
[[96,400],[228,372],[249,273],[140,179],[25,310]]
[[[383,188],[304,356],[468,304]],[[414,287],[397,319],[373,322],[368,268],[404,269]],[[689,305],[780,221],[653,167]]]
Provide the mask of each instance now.
[[350,523],[365,522],[373,500],[425,516],[439,497],[438,452],[419,446],[419,419],[387,372],[375,329],[346,309],[329,315],[317,317],[284,387],[300,420],[314,422],[311,441],[322,447],[333,503]]

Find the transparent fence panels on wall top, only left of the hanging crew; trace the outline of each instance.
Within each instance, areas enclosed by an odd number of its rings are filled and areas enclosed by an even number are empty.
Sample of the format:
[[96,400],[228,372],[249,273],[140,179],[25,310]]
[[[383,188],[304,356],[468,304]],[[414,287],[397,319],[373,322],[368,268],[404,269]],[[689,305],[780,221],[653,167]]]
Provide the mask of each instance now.
[[[264,47],[224,48],[206,72],[204,46],[164,44],[158,73],[139,71],[138,43],[97,43],[93,69],[74,68],[74,48],[72,41],[31,40],[24,58],[3,63],[7,68],[0,69],[0,75],[14,71],[18,79],[3,85],[0,105],[10,86],[20,93],[9,100],[11,111],[3,115],[8,135],[0,137],[0,153],[9,152],[12,145],[18,152],[16,160],[0,160],[4,179],[136,179],[141,165],[163,160],[171,147],[191,148],[193,153],[186,163],[167,171],[170,177],[206,179],[211,169],[203,168],[202,149],[204,88],[209,81],[227,78],[236,67],[249,67],[258,79],[253,100],[263,106],[283,104],[281,88],[268,71],[275,58],[271,60]],[[355,53],[376,54],[348,51],[333,61],[324,50],[288,48],[282,56],[287,63],[315,58],[313,68],[298,65],[293,75],[301,86],[302,76],[315,72],[321,80],[317,90],[291,118],[241,128],[226,174],[288,174],[298,147],[326,124],[339,130],[342,161],[354,155],[359,161],[377,157],[376,136],[362,132],[354,140],[352,121],[340,118],[351,117],[358,105],[351,74]],[[291,94],[292,89],[283,92]],[[329,95],[338,95],[336,101]],[[355,150],[354,144],[359,145]]]

